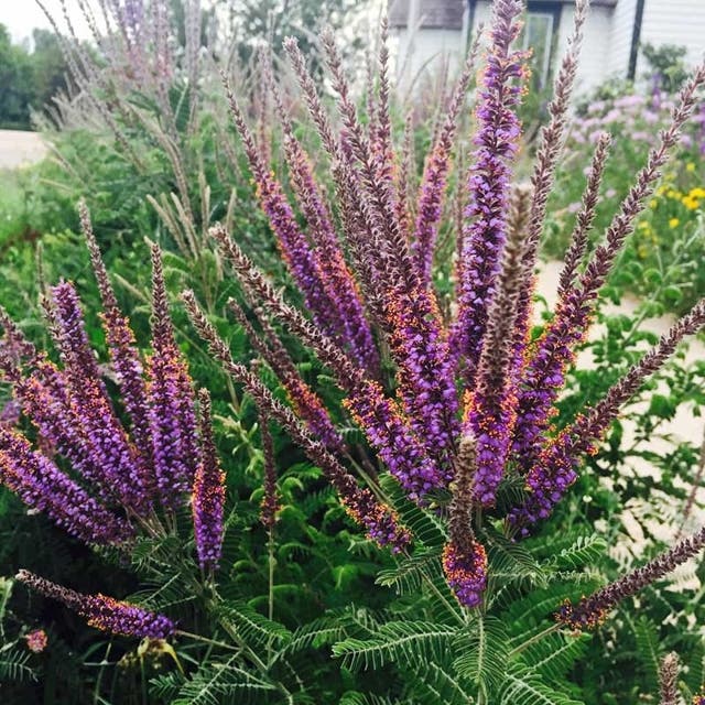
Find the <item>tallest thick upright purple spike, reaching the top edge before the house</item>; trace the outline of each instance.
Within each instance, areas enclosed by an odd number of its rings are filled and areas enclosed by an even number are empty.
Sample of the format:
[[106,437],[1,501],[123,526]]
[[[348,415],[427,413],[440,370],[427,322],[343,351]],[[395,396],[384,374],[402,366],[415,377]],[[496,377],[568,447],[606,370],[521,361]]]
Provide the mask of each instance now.
[[451,350],[464,357],[468,379],[475,372],[507,239],[511,163],[521,132],[516,108],[524,76],[524,54],[511,51],[520,31],[520,0],[498,0],[491,44],[482,78],[477,119],[477,149],[468,183],[470,204],[462,239],[458,314]]

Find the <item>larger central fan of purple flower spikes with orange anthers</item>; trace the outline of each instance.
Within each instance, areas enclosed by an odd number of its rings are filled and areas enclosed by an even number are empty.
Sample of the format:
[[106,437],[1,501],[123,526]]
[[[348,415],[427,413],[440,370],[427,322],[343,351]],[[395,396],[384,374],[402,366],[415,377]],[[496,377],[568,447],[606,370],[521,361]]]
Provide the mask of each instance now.
[[[358,463],[365,449],[341,433],[350,422],[364,432],[381,469],[399,481],[406,498],[432,506],[448,519],[443,566],[458,601],[468,607],[480,604],[488,583],[487,554],[479,538],[484,514],[489,514],[495,528],[503,520],[511,539],[549,517],[620,406],[684,336],[705,323],[705,306],[696,306],[594,409],[584,410],[563,429],[554,427],[556,401],[594,318],[599,290],[651,198],[669,154],[681,143],[705,83],[705,68],[684,85],[673,102],[670,123],[603,241],[588,252],[610,147],[601,130],[595,135],[596,151],[577,206],[558,304],[534,339],[534,269],[567,135],[587,2],[576,3],[574,31],[556,73],[550,120],[540,134],[529,185],[511,183],[521,140],[518,107],[527,77],[525,55],[514,48],[523,4],[521,0],[495,2],[474,106],[469,178],[459,187],[458,202],[467,205],[454,232],[458,261],[455,272],[444,272],[455,283],[449,301],[436,291],[432,264],[448,205],[454,138],[475,52],[448,94],[445,116],[436,122],[413,203],[410,174],[399,173],[399,164],[412,163],[409,147],[401,156],[394,153],[386,30],[379,73],[369,80],[365,120],[330,34],[322,37],[330,85],[338,96],[339,130],[324,108],[296,42],[285,42],[329,161],[334,203],[326,203],[325,188],[317,185],[312,166],[323,158],[308,158],[268,72],[300,218],[225,80],[262,209],[308,315],[290,305],[253,264],[237,234],[231,237],[226,227],[215,226],[210,235],[241,286],[238,302],[230,307],[257,352],[279,377],[293,411],[279,404],[251,369],[232,361],[193,294],[185,295],[187,311],[214,356],[261,411],[282,424],[324,469],[349,516],[372,539],[401,551],[411,536],[375,484],[380,468],[368,457]],[[336,220],[340,223],[337,230]],[[282,344],[280,328],[296,336],[333,376],[343,394],[339,408],[326,410],[314,387],[304,383]],[[346,469],[347,464],[359,469],[359,479]],[[362,489],[362,480],[372,485]],[[597,607],[585,611],[566,606],[563,621],[589,625],[604,614]]]

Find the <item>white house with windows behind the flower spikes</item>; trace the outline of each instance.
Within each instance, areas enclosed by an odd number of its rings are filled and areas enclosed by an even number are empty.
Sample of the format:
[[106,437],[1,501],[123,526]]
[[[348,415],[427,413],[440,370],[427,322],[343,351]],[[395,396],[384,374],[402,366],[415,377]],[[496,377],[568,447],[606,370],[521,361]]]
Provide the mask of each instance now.
[[[529,0],[522,42],[534,52],[533,70],[543,83],[565,50],[574,0]],[[389,19],[398,39],[401,85],[446,58],[465,54],[474,31],[491,17],[489,0],[390,0]],[[677,44],[695,65],[705,53],[705,0],[593,0],[577,76],[589,90],[616,76],[638,77],[644,66],[640,45]]]

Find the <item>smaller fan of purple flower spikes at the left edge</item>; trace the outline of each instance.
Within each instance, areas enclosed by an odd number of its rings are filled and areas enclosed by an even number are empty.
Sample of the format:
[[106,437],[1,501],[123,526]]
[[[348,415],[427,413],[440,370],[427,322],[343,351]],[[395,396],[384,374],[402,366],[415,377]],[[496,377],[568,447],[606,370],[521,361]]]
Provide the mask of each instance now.
[[141,524],[152,520],[158,523],[151,530],[159,530],[159,511],[171,513],[193,494],[198,558],[204,567],[215,567],[223,534],[223,473],[207,400],[200,429],[196,419],[193,383],[169,316],[161,253],[153,246],[152,352],[143,362],[83,205],[80,215],[102,299],[111,369],[131,424],[123,425],[110,398],[76,290],[61,282],[44,302],[61,365],[37,351],[0,311],[0,372],[34,426],[39,446],[34,449],[28,436],[0,422],[0,480],[74,536],[101,545],[129,545]]

